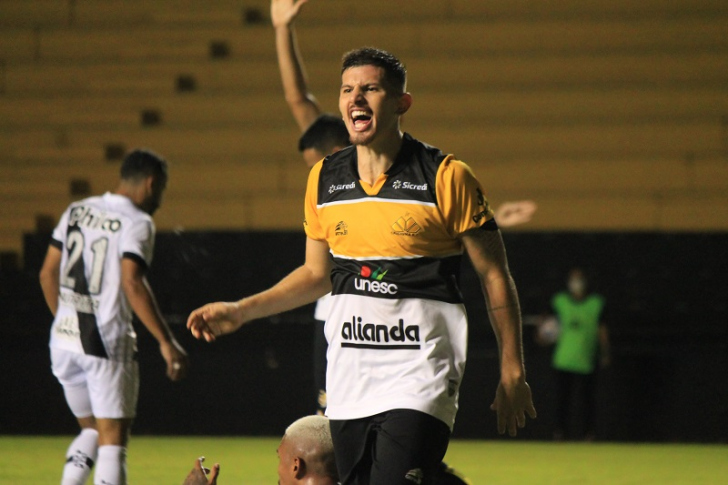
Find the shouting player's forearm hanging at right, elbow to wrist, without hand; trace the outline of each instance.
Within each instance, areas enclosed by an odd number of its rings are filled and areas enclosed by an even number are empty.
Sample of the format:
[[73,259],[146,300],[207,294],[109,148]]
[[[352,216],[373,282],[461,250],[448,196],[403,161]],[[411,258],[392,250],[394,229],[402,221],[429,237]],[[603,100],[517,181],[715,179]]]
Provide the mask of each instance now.
[[493,331],[498,341],[501,379],[525,377],[521,308],[516,286],[505,271],[483,285]]

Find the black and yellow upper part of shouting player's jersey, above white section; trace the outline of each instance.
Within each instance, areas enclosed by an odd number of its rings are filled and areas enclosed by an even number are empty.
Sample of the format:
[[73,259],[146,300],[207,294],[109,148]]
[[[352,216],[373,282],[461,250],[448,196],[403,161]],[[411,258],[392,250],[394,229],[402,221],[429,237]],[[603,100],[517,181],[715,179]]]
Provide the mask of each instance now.
[[[381,291],[383,298],[460,302],[458,236],[481,226],[494,227],[493,213],[470,168],[408,135],[373,186],[359,180],[354,147],[309,177],[306,234],[329,244],[334,294],[365,294],[354,281],[363,276],[397,284],[397,294]],[[361,273],[360,261],[371,275]]]

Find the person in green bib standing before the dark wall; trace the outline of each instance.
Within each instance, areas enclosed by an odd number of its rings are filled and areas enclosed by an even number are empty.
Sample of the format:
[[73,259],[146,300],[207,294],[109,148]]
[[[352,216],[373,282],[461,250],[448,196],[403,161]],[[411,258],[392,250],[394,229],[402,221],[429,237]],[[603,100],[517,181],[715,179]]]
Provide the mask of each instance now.
[[574,399],[583,409],[584,439],[593,440],[595,430],[595,374],[597,363],[609,365],[609,333],[604,324],[604,297],[588,291],[584,271],[569,272],[568,291],[556,294],[552,307],[560,331],[552,365],[556,372],[556,427],[554,439],[573,438],[570,433],[571,404]]

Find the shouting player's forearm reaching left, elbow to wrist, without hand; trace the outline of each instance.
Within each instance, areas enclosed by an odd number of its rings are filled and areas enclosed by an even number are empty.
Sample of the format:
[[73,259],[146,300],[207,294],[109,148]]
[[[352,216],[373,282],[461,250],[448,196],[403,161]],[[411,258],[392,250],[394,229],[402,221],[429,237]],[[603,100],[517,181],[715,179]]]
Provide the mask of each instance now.
[[272,288],[237,302],[243,323],[312,303],[331,291],[327,274],[307,266],[295,269]]

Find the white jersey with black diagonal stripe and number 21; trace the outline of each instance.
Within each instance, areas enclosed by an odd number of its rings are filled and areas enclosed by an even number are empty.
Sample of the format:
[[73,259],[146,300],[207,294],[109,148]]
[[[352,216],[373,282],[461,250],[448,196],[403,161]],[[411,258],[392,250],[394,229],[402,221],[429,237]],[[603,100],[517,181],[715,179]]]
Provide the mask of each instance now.
[[132,310],[121,288],[125,257],[148,266],[154,223],[127,197],[106,193],[71,204],[53,232],[61,248],[58,312],[50,346],[128,361],[136,353]]

